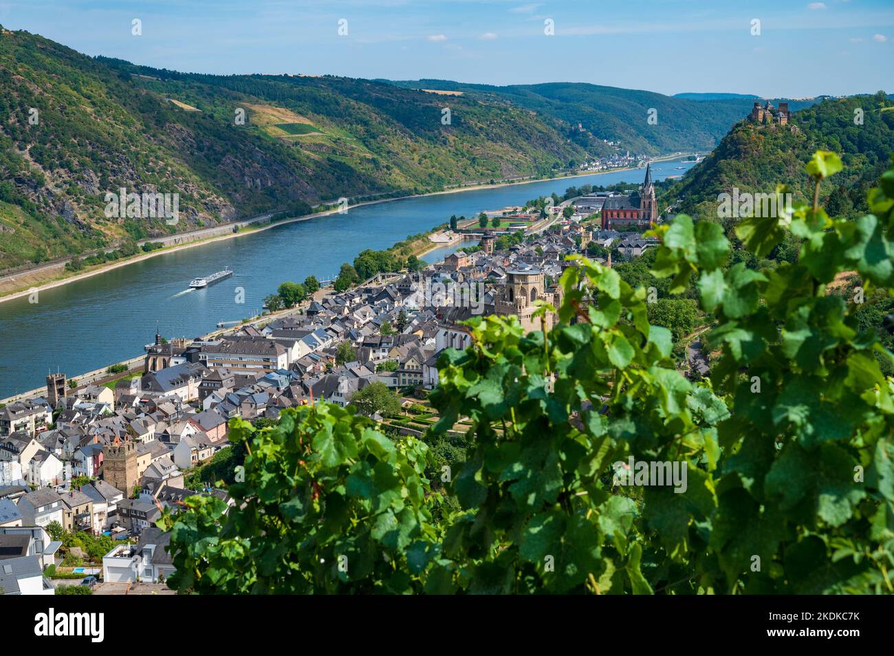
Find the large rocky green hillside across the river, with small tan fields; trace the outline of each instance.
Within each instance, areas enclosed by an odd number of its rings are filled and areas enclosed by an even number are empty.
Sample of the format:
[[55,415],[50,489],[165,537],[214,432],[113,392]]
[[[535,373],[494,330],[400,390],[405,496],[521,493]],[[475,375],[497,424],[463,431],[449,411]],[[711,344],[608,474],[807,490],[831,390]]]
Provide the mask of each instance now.
[[[267,210],[546,176],[604,147],[503,101],[157,71],[5,29],[0,88],[0,271]],[[106,217],[121,188],[179,194],[179,223]]]

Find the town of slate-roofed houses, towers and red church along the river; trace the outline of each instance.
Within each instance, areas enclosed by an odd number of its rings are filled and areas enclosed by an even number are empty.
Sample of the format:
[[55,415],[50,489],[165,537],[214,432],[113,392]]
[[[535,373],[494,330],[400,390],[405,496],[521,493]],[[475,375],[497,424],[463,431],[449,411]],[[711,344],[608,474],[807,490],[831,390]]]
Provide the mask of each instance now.
[[[419,435],[437,419],[425,399],[439,356],[470,343],[466,320],[515,315],[526,331],[540,330],[534,313],[541,301],[561,304],[557,282],[573,265],[566,256],[611,266],[612,257],[635,259],[657,244],[642,235],[659,220],[649,166],[637,195],[595,191],[539,213],[487,214],[499,228],[470,220],[433,234],[435,246],[463,246],[437,264],[342,292],[324,286],[298,307],[204,338],[159,333],[123,375],[75,383],[51,373],[44,393],[0,409],[0,545],[18,563],[0,574],[4,589],[53,593],[83,575],[109,593],[170,592],[170,534],[156,519],[193,495],[226,499],[198,472],[231,449],[232,418],[264,425],[283,408],[345,407],[378,392],[394,405],[367,404],[375,421]],[[554,321],[547,315],[547,328]],[[60,532],[112,546],[63,555]],[[47,578],[57,567],[65,576]]]

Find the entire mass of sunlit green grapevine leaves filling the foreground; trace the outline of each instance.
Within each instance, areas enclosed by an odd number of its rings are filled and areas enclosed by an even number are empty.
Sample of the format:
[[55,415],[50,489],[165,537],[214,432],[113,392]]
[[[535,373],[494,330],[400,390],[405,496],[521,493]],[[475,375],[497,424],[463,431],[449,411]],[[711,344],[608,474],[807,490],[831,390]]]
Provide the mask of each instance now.
[[[817,153],[818,186],[840,169]],[[785,193],[780,188],[780,193]],[[646,291],[572,257],[560,322],[470,323],[430,396],[436,440],[465,418],[468,450],[426,479],[431,452],[392,442],[351,408],[232,427],[245,442],[235,505],[192,498],[162,526],[198,593],[892,593],[894,358],[828,294],[856,271],[894,293],[894,169],[856,222],[796,206],[738,224],[758,257],[790,232],[797,264],[728,266],[721,227],[679,216],[655,234],[654,274],[692,281],[713,317],[710,380],[685,377]],[[544,315],[551,307],[541,307]],[[629,480],[620,463],[675,465],[683,484]],[[685,469],[683,466],[685,465]],[[660,467],[658,467],[660,470]],[[670,469],[666,470],[670,471]],[[678,470],[675,470],[678,471]],[[639,484],[639,483],[651,484]],[[342,565],[340,567],[340,564]]]

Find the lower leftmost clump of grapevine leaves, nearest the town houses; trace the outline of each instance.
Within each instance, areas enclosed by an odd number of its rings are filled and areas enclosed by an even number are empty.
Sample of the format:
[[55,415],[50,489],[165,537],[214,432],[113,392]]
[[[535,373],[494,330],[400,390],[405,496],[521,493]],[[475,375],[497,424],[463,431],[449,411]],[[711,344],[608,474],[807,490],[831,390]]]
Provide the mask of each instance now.
[[[236,419],[248,455],[236,505],[192,497],[163,517],[177,571],[198,593],[406,593],[420,590],[417,551],[436,541],[427,447],[392,442],[338,406],[290,408],[273,428]],[[175,520],[175,521],[174,521]],[[416,570],[416,574],[411,572]]]

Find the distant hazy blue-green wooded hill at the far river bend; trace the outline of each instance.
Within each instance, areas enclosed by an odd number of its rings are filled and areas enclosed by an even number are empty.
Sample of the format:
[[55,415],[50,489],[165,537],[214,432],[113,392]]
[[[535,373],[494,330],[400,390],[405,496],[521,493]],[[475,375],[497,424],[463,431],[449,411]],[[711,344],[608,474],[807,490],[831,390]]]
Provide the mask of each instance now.
[[[709,151],[730,126],[751,111],[756,97],[713,95],[709,99],[663,96],[652,91],[578,82],[495,87],[450,80],[402,80],[401,88],[461,92],[468,97],[502,100],[578,126],[596,139],[619,142],[631,152],[660,155]],[[775,102],[775,101],[774,101]],[[792,109],[813,101],[789,101]],[[656,122],[648,122],[654,109]]]

